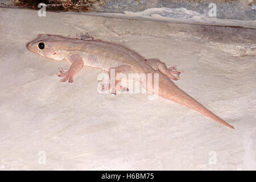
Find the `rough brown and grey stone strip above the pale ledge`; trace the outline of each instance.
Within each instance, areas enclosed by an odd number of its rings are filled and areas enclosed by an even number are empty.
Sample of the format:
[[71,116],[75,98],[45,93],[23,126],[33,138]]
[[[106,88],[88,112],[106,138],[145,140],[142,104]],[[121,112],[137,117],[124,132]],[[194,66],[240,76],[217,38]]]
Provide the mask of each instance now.
[[47,4],[48,10],[84,11],[98,13],[138,12],[151,8],[168,7],[171,9],[184,7],[187,10],[207,15],[209,3],[216,3],[217,18],[256,20],[256,0],[0,0],[0,6],[33,7],[38,3]]

